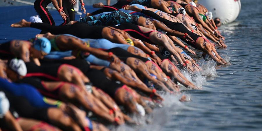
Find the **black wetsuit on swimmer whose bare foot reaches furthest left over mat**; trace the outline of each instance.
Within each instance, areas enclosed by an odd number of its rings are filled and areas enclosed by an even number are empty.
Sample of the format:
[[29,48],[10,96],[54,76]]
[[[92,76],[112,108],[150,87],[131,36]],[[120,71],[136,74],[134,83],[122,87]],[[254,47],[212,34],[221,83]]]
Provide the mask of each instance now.
[[48,31],[54,35],[70,34],[79,38],[102,38],[102,30],[106,26],[89,26],[85,23],[75,23],[64,26],[51,26],[46,23],[31,23],[30,27]]

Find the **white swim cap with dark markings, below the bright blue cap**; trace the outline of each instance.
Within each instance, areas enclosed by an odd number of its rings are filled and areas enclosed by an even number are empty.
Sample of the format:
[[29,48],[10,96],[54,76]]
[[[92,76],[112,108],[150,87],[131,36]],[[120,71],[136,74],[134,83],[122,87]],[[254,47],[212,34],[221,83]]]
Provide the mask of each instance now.
[[21,59],[12,59],[9,63],[9,68],[21,76],[25,76],[27,73],[26,65]]

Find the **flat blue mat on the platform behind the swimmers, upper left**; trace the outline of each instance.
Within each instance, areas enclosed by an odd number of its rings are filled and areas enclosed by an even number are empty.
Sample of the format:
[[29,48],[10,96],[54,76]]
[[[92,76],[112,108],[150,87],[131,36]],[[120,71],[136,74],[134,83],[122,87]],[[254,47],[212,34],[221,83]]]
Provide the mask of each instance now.
[[[93,12],[97,8],[92,6],[85,6],[86,12]],[[56,10],[49,9],[56,25],[63,23],[61,16]],[[19,22],[22,19],[29,21],[29,18],[33,15],[37,15],[33,6],[6,6],[0,7],[0,43],[6,41],[19,39],[19,40],[28,40],[33,38],[36,34],[40,33],[40,30],[33,28],[11,28],[10,25],[16,22]],[[84,17],[85,14],[82,15]],[[79,19],[79,15],[75,15],[75,20]]]

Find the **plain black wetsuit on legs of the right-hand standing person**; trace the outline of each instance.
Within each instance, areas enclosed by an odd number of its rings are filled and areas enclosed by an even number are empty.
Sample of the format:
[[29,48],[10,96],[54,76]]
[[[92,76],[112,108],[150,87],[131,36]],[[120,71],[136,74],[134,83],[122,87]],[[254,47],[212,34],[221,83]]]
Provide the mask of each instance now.
[[61,25],[65,25],[70,21],[75,21],[75,10],[74,6],[70,3],[69,0],[62,0],[62,7],[65,14],[68,16],[66,20]]

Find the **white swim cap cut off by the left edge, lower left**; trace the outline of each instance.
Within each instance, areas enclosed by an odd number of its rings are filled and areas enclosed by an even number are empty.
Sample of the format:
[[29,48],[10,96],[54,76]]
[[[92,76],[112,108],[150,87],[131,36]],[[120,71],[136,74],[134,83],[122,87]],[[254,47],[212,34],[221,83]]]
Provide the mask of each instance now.
[[6,112],[9,110],[9,101],[6,98],[6,94],[0,91],[0,118],[3,118]]

